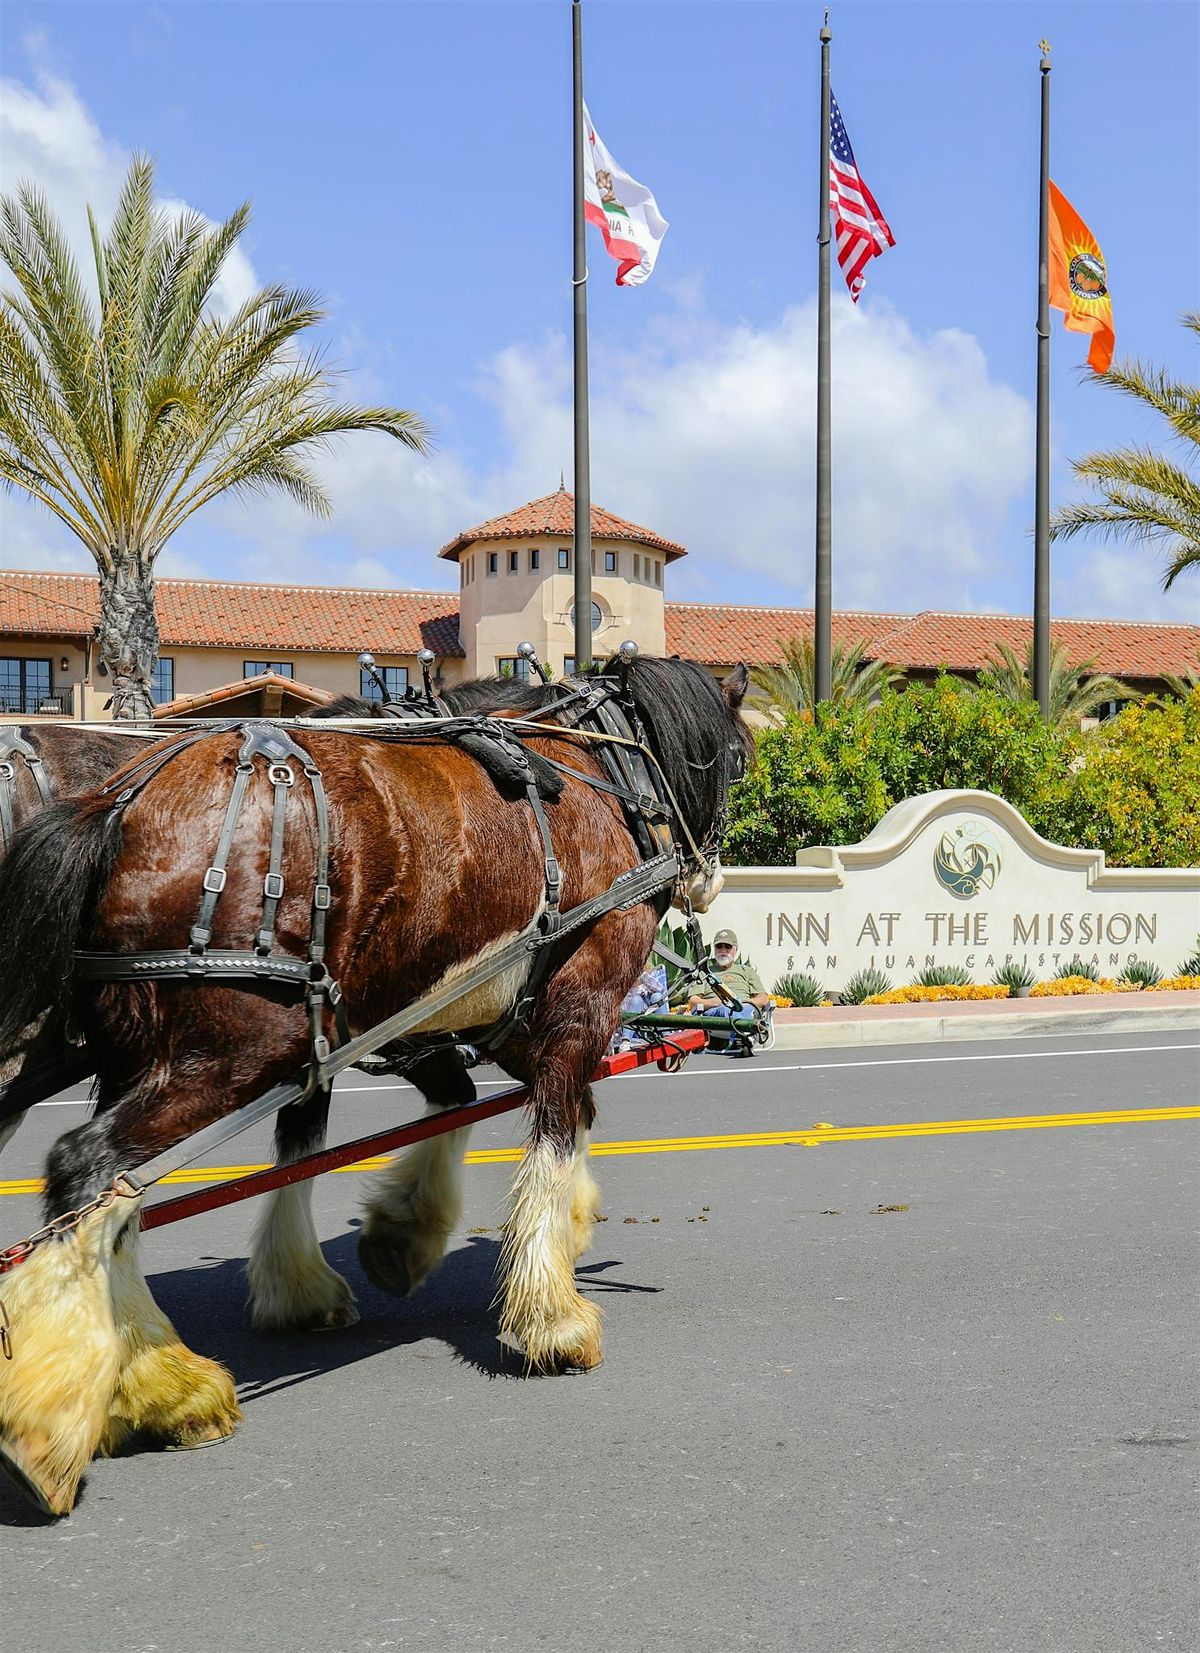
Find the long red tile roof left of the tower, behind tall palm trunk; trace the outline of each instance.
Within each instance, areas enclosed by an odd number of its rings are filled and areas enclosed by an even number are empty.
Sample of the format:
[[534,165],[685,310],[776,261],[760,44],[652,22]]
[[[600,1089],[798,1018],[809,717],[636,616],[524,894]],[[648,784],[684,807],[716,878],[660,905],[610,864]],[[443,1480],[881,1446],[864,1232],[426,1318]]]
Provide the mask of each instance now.
[[[157,580],[164,646],[269,648],[289,653],[458,655],[453,592],[365,592],[331,585],[248,585],[238,580]],[[99,580],[88,574],[0,572],[0,631],[89,636]]]

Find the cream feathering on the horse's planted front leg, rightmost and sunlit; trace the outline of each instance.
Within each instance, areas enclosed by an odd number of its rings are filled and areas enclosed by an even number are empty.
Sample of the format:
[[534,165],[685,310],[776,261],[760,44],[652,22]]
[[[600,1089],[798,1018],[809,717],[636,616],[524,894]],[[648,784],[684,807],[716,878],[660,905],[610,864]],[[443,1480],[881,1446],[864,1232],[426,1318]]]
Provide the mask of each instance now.
[[575,1157],[536,1142],[512,1180],[501,1245],[501,1342],[539,1372],[600,1364],[600,1311],[575,1289]]

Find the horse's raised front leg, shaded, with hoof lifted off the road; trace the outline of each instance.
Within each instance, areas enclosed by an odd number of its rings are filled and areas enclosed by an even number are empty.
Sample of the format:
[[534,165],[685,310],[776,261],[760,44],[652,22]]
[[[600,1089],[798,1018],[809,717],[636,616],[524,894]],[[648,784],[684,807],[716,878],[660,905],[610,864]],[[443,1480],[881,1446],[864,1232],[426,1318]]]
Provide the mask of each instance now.
[[[435,1051],[408,1078],[430,1112],[474,1101],[474,1083],[455,1051]],[[446,1255],[463,1210],[463,1152],[469,1134],[466,1126],[418,1142],[374,1179],[359,1261],[383,1291],[407,1296]]]

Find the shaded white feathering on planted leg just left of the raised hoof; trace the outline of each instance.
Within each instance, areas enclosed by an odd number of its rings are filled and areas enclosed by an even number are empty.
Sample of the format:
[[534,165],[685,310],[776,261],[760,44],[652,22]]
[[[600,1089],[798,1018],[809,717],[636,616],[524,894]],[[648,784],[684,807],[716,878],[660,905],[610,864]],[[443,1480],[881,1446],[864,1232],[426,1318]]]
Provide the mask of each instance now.
[[347,1281],[321,1255],[311,1182],[269,1197],[255,1225],[246,1274],[258,1331],[337,1331],[359,1319]]

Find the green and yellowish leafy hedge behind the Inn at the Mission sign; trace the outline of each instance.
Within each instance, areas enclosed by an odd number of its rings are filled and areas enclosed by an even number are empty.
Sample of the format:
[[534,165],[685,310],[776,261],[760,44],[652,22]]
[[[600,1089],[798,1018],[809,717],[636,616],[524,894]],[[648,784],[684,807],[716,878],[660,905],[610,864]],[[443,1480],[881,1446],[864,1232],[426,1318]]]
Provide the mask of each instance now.
[[1055,734],[1031,703],[942,676],[871,711],[821,707],[764,729],[734,788],[724,858],[787,866],[797,850],[858,843],[901,798],[979,787],[1058,843],[1119,866],[1200,861],[1200,689],[1127,707],[1089,734]]

